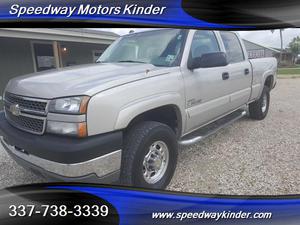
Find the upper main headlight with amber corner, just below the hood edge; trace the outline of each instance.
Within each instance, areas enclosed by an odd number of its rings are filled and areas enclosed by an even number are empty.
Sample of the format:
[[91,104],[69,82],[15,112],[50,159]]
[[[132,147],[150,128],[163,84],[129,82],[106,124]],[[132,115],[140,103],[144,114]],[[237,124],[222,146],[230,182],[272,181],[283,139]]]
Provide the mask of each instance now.
[[66,114],[85,114],[90,97],[68,97],[54,99],[49,104],[49,112]]

